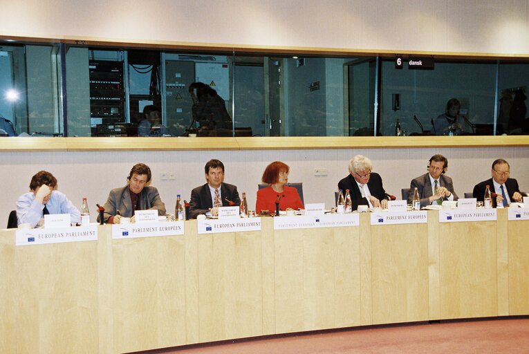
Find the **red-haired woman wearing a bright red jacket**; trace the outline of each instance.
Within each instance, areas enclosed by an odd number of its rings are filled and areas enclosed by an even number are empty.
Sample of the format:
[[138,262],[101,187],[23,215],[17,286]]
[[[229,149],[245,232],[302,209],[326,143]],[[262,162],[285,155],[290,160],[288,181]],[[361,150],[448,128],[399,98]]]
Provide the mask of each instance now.
[[255,203],[255,212],[261,214],[261,210],[268,210],[270,214],[275,214],[276,201],[279,201],[279,210],[284,211],[287,208],[303,209],[301,198],[297,194],[297,189],[288,187],[288,165],[281,161],[272,162],[263,172],[263,183],[268,187],[257,191],[257,203]]

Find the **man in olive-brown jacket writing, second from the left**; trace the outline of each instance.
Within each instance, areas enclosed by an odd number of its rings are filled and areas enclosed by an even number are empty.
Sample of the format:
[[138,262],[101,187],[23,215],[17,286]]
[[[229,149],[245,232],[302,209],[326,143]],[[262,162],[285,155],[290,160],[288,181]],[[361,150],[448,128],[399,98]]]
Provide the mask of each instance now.
[[119,224],[122,216],[131,218],[131,222],[134,222],[135,210],[157,209],[158,215],[165,215],[165,204],[160,199],[158,189],[148,185],[151,181],[149,166],[142,163],[134,165],[127,181],[129,183],[126,186],[110,191],[109,198],[104,203],[105,223]]

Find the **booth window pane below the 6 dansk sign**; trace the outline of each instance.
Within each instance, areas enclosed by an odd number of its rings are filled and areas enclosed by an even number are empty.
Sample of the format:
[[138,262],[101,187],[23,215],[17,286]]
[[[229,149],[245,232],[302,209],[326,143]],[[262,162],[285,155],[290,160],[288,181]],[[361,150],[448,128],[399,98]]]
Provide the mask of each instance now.
[[381,135],[395,135],[397,122],[401,135],[494,135],[496,70],[496,63],[456,61],[410,70],[383,60]]

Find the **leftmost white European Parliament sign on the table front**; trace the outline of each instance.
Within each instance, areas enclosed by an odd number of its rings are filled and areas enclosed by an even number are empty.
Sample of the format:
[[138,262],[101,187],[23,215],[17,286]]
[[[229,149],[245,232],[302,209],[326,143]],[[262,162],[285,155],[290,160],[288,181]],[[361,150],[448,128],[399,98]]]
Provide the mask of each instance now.
[[15,232],[15,245],[17,246],[77,241],[98,241],[98,225],[17,230]]

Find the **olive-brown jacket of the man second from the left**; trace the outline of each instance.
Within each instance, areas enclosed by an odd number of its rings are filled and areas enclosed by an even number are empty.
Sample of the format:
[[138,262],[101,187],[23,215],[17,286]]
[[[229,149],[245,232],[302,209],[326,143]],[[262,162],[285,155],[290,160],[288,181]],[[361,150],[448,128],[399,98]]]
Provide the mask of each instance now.
[[[158,209],[158,215],[165,215],[165,204],[160,199],[158,189],[150,186],[143,187],[142,192],[140,192],[140,207],[138,209]],[[110,191],[109,198],[104,203],[105,223],[111,216],[117,214],[117,210],[120,211],[121,216],[126,218],[132,216],[132,201],[128,184],[125,187],[115,188]]]

